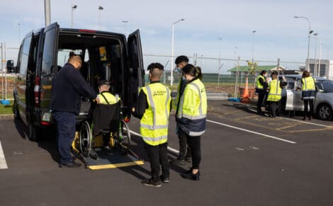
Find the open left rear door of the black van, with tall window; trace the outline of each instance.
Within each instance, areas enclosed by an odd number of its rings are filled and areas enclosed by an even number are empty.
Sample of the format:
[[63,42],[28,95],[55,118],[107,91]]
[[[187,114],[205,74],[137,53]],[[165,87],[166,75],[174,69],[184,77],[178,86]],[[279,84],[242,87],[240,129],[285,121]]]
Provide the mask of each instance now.
[[40,108],[49,109],[52,80],[57,74],[59,25],[52,23],[44,30],[42,68],[40,69]]

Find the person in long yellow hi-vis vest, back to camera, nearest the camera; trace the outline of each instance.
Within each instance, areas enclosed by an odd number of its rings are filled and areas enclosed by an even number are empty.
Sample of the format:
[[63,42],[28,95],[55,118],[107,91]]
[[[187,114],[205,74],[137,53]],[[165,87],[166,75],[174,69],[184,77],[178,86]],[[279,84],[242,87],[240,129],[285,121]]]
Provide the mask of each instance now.
[[[159,63],[148,66],[150,84],[142,87],[136,108],[132,114],[140,119],[140,134],[149,156],[152,178],[142,184],[160,187],[161,181],[169,183],[169,159],[167,154],[169,115],[171,110],[171,92],[161,84],[164,67]],[[159,176],[162,166],[162,176]]]

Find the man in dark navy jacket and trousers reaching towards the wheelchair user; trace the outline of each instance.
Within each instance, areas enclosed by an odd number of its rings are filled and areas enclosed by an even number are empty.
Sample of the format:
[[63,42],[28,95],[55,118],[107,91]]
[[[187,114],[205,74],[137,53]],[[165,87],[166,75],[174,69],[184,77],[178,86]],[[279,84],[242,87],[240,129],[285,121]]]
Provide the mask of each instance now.
[[78,55],[69,57],[67,64],[64,64],[64,67],[55,76],[52,85],[50,108],[57,121],[59,166],[62,168],[81,166],[74,162],[70,154],[75,136],[75,115],[80,112],[81,96],[99,102],[96,91],[86,83],[79,72],[81,65],[81,57]]

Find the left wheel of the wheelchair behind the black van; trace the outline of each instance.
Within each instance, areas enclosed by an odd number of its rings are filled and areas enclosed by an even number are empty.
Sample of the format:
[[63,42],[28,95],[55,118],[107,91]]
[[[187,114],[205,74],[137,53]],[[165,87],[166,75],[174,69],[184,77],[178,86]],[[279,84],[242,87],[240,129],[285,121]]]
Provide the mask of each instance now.
[[80,151],[83,156],[89,156],[91,150],[91,130],[89,122],[83,122],[79,137]]

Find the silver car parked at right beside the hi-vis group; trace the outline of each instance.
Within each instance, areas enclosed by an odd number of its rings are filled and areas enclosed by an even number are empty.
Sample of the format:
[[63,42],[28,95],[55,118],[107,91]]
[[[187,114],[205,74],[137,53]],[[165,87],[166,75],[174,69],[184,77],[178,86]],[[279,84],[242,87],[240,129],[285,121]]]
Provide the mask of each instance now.
[[[302,76],[286,75],[288,85],[282,91],[281,107],[287,111],[303,111],[302,100]],[[313,76],[316,79],[316,98],[313,113],[321,120],[332,120],[333,108],[333,81],[322,77]]]

